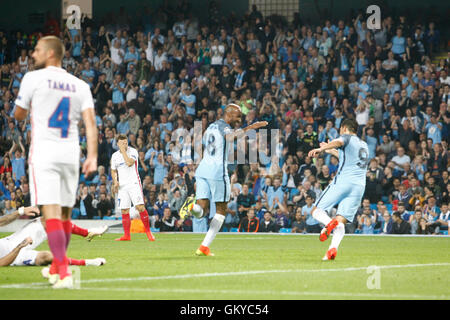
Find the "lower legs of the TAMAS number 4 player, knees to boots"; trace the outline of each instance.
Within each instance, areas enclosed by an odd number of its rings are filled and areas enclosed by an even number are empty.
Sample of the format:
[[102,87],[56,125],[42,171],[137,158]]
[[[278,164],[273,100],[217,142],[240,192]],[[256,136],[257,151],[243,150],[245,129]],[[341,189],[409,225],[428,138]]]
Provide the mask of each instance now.
[[62,210],[60,205],[52,204],[43,205],[41,212],[45,219],[48,246],[53,255],[52,267],[50,269],[54,276],[50,283],[54,282],[55,288],[71,288],[73,286],[72,276],[68,268],[69,262],[66,256],[69,240],[66,239],[64,230],[66,222],[63,223],[63,221],[68,220],[67,214],[70,211],[67,208]]

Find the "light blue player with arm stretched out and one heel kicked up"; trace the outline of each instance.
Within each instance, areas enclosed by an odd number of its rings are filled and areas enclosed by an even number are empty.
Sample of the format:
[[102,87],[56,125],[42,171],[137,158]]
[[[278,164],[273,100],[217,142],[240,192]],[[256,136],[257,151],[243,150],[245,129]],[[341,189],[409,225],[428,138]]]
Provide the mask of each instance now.
[[236,104],[229,104],[225,109],[223,119],[212,123],[206,130],[203,136],[206,148],[203,152],[203,159],[195,171],[195,198],[188,197],[180,209],[182,219],[188,214],[201,218],[209,208],[209,201],[215,202],[216,214],[205,239],[195,252],[198,256],[214,255],[209,246],[225,220],[227,202],[230,200],[231,194],[227,169],[229,147],[233,146],[234,138],[243,136],[248,130],[267,126],[267,121],[260,121],[233,132],[231,128],[240,125],[241,117],[241,108]]

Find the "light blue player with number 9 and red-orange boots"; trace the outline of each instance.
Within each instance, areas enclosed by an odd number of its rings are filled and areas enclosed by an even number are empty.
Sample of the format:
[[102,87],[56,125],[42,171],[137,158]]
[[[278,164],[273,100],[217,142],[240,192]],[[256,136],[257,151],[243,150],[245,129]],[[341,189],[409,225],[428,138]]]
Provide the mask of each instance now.
[[[353,222],[366,187],[369,149],[367,144],[356,136],[357,130],[357,122],[346,119],[341,124],[339,138],[330,143],[321,143],[320,148],[308,153],[308,156],[315,157],[325,151],[339,158],[336,176],[322,192],[312,209],[314,219],[325,225],[319,236],[320,241],[327,240],[334,229],[330,247],[322,260],[336,258],[337,249],[345,235],[345,223]],[[335,205],[338,205],[336,218],[331,219],[326,211],[331,210]]]

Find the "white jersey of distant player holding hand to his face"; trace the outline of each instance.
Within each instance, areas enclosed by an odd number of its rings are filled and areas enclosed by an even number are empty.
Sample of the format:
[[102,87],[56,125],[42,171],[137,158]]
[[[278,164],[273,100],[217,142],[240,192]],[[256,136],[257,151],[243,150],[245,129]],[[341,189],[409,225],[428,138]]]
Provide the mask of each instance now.
[[141,179],[139,178],[138,160],[139,154],[136,149],[128,147],[127,155],[134,160],[134,165],[129,167],[125,163],[120,151],[113,153],[111,157],[111,170],[116,170],[119,180],[119,187],[128,186],[132,184],[141,185]]

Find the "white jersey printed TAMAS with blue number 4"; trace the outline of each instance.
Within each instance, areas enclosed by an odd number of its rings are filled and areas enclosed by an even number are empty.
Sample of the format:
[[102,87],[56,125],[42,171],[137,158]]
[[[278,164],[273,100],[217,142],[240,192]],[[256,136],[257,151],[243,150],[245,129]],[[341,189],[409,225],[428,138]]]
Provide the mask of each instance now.
[[86,82],[53,66],[28,72],[15,104],[30,110],[29,163],[79,163],[78,123],[84,110],[94,108]]

